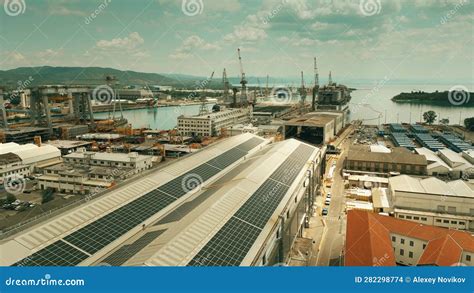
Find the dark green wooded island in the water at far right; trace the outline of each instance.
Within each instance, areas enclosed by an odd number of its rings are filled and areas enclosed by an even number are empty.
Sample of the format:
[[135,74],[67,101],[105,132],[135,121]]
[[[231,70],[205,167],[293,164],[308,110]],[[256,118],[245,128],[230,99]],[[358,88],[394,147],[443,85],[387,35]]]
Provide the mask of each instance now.
[[428,93],[424,91],[412,91],[410,93],[400,93],[393,97],[392,101],[395,103],[474,107],[474,93],[449,91]]

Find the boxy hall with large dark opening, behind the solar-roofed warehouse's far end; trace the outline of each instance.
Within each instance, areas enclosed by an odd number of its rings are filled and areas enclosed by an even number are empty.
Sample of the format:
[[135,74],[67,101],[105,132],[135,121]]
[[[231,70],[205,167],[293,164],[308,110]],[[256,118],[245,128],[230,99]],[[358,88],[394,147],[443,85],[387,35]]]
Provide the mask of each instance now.
[[320,145],[331,142],[344,126],[343,113],[312,112],[284,123],[285,138]]

